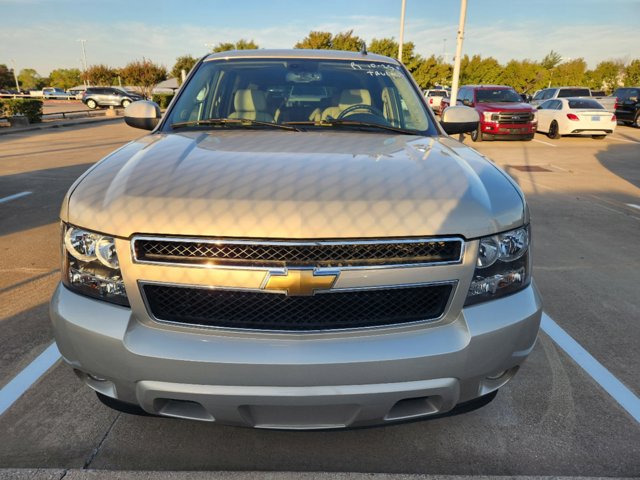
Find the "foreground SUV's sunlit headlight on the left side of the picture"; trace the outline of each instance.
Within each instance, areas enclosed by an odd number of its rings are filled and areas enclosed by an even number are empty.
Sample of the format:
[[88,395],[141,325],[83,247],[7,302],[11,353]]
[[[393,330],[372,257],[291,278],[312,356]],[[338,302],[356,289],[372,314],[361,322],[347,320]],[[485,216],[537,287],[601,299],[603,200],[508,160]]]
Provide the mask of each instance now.
[[113,237],[63,225],[62,283],[69,289],[129,306]]

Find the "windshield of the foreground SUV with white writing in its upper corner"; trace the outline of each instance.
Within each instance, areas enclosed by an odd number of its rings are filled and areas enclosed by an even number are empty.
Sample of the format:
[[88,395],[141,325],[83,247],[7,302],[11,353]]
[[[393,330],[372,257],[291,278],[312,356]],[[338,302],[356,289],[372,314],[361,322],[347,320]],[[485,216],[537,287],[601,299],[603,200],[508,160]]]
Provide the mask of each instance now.
[[[230,119],[247,122],[220,121]],[[322,59],[205,61],[169,112],[165,131],[264,123],[437,133],[400,66]]]

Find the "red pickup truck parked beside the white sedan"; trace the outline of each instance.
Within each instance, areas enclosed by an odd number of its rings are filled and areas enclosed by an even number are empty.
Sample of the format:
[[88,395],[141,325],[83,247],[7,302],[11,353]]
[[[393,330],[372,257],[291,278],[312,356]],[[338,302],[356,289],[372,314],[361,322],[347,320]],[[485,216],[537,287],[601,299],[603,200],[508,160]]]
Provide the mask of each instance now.
[[[449,106],[443,98],[441,110]],[[504,85],[465,85],[458,90],[457,103],[473,107],[480,114],[474,142],[494,139],[531,140],[538,126],[536,110],[512,87]]]

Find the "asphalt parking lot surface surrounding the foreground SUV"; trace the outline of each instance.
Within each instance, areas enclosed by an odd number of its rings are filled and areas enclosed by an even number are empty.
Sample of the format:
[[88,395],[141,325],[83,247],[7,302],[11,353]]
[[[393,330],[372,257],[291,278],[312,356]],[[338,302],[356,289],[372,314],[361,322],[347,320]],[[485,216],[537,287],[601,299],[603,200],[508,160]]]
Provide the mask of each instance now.
[[[66,190],[141,133],[118,121],[0,137],[0,387],[52,342],[47,308],[59,277],[57,215]],[[527,195],[547,318],[637,405],[640,129],[619,126],[600,141],[538,134],[531,142],[465,143]],[[482,409],[350,431],[129,416],[104,407],[57,363],[0,416],[0,468],[640,475],[640,423],[614,398],[619,387],[600,386],[584,356],[570,358],[549,332]]]

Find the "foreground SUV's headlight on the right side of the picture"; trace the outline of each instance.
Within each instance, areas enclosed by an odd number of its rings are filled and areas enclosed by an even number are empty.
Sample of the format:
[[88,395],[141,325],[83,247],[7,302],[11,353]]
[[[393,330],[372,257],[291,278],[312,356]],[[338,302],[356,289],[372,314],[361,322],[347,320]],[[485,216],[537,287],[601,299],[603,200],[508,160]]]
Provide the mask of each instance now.
[[480,239],[465,306],[518,292],[531,282],[529,226]]

